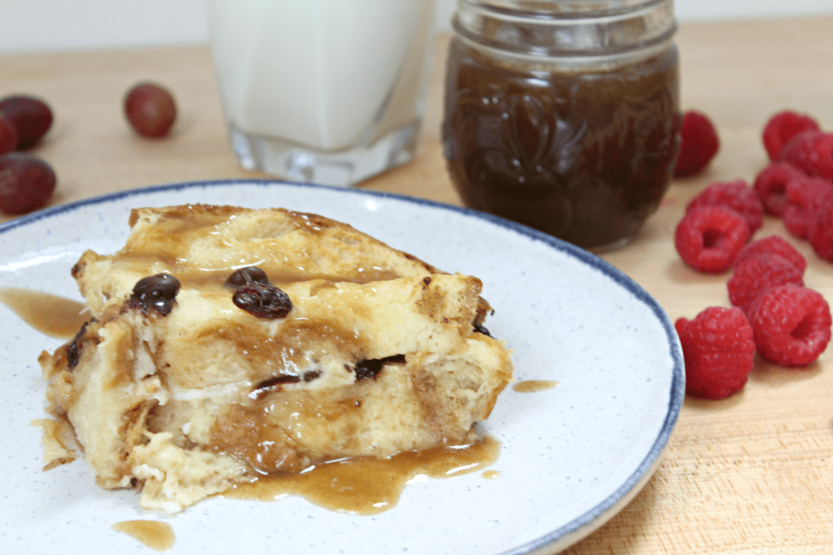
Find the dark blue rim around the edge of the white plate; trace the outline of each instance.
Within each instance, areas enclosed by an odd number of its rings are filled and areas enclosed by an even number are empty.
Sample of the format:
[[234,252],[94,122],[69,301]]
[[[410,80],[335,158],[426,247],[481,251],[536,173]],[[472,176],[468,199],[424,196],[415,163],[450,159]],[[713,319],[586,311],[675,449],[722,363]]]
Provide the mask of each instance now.
[[393,199],[397,201],[404,201],[416,205],[428,206],[441,211],[448,211],[450,213],[457,213],[465,216],[479,218],[483,221],[491,223],[492,225],[497,225],[512,230],[519,235],[525,235],[531,240],[541,241],[542,243],[550,246],[551,248],[560,250],[561,252],[564,252],[567,255],[570,255],[571,257],[580,260],[583,264],[589,265],[592,268],[600,271],[602,274],[606,275],[608,278],[616,282],[617,285],[620,285],[622,288],[630,292],[630,294],[633,295],[642,304],[646,305],[646,307],[648,307],[651,310],[651,312],[655,315],[656,320],[661,322],[662,329],[666,334],[667,344],[670,347],[670,356],[672,359],[671,392],[669,394],[665,420],[662,423],[661,429],[659,430],[659,433],[656,435],[656,439],[651,445],[651,448],[647,451],[644,458],[641,460],[641,463],[638,464],[636,469],[631,473],[630,477],[628,477],[624,481],[624,483],[621,483],[621,486],[619,488],[616,488],[616,491],[612,492],[610,495],[604,498],[601,501],[601,503],[597,503],[591,509],[586,510],[586,512],[581,513],[575,518],[572,518],[571,521],[555,530],[552,530],[550,533],[543,534],[535,540],[524,543],[523,545],[517,548],[504,551],[501,553],[501,555],[555,553],[554,551],[552,551],[553,549],[561,550],[563,548],[569,547],[571,543],[577,542],[578,540],[585,537],[587,534],[591,533],[593,530],[601,526],[601,524],[604,523],[608,518],[611,518],[619,509],[621,509],[624,506],[624,504],[629,502],[631,498],[634,495],[636,495],[636,493],[638,493],[639,489],[641,489],[641,486],[644,485],[647,479],[651,477],[653,471],[656,470],[656,466],[660,462],[659,459],[661,453],[663,449],[666,447],[666,444],[671,436],[671,432],[674,429],[676,419],[680,413],[682,402],[685,397],[684,362],[682,358],[681,348],[679,346],[679,341],[676,336],[676,331],[674,330],[674,327],[671,324],[671,320],[668,319],[668,316],[666,315],[665,311],[662,310],[661,306],[658,305],[656,300],[654,300],[651,297],[651,295],[649,295],[646,292],[646,290],[643,290],[640,285],[637,285],[635,281],[631,280],[630,277],[622,273],[621,270],[616,269],[616,267],[610,265],[605,260],[601,260],[596,255],[592,255],[590,252],[586,250],[576,247],[575,245],[571,245],[570,243],[566,243],[563,240],[556,239],[551,235],[546,235],[541,231],[533,230],[529,227],[526,227],[525,225],[521,225],[513,221],[507,221],[498,216],[492,216],[490,214],[473,211],[468,208],[450,206],[441,204],[436,201],[427,201],[423,199],[402,196],[382,191],[367,191],[363,189],[339,188],[331,186],[320,186],[309,183],[294,183],[287,181],[235,179],[173,183],[160,186],[143,187],[140,189],[134,189],[129,191],[120,191],[102,196],[95,196],[82,201],[68,203],[62,206],[49,207],[42,211],[37,211],[26,216],[18,217],[15,220],[4,222],[0,224],[0,234],[5,234],[8,231],[17,229],[25,225],[30,225],[34,222],[51,218],[53,216],[58,216],[64,213],[77,211],[78,209],[84,206],[98,205],[110,201],[119,201],[132,196],[141,197],[149,194],[166,191],[185,191],[197,188],[209,189],[216,186],[229,187],[237,185],[263,187],[288,186],[325,191],[338,191],[339,193],[343,193],[346,195],[359,195],[378,199]]

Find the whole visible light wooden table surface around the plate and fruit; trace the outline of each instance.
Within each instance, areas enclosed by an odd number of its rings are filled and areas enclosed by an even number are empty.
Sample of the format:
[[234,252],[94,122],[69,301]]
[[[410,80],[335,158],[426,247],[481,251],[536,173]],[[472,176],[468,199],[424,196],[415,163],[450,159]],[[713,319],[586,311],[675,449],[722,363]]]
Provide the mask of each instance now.
[[[416,160],[362,187],[459,204],[439,142],[446,41],[438,41]],[[761,128],[776,111],[805,111],[833,130],[833,17],[686,23],[677,43],[683,108],[712,117],[721,150],[703,175],[672,184],[631,245],[603,255],[672,320],[729,305],[727,275],[697,274],[676,255],[673,230],[686,202],[711,181],[754,180],[766,165]],[[143,80],[177,98],[180,117],[166,140],[138,138],[122,116],[122,96]],[[57,173],[55,204],[176,181],[267,177],[242,171],[232,156],[207,47],[0,56],[0,97],[17,92],[46,99],[55,113],[33,151]],[[791,239],[768,218],[756,237],[772,234]],[[833,301],[833,264],[792,242],[808,260],[807,286]],[[833,348],[806,369],[758,359],[740,394],[686,399],[654,478],[566,553],[833,553]]]

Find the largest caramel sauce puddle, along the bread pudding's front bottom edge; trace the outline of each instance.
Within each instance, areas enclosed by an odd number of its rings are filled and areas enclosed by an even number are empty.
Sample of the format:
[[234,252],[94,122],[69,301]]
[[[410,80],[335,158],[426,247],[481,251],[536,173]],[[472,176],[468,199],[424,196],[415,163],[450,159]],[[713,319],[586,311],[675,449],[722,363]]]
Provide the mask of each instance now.
[[470,445],[408,451],[391,458],[346,458],[317,464],[302,473],[259,478],[223,497],[272,501],[300,495],[341,513],[377,514],[393,508],[413,478],[451,478],[494,463],[501,444],[486,435]]

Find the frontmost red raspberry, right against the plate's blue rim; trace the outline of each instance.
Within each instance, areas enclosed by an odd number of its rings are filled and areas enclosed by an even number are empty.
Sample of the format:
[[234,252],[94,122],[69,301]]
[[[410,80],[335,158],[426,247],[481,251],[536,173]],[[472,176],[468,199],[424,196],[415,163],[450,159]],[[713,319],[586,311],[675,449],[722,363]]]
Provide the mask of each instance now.
[[674,327],[686,359],[686,394],[723,399],[743,389],[755,365],[755,341],[740,309],[712,306]]

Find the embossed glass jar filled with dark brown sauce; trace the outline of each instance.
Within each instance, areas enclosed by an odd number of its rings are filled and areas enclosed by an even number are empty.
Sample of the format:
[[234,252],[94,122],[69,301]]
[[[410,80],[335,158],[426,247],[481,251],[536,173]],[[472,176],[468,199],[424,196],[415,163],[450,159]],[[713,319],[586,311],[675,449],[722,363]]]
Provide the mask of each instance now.
[[466,206],[626,244],[679,151],[671,0],[459,0],[443,153]]

